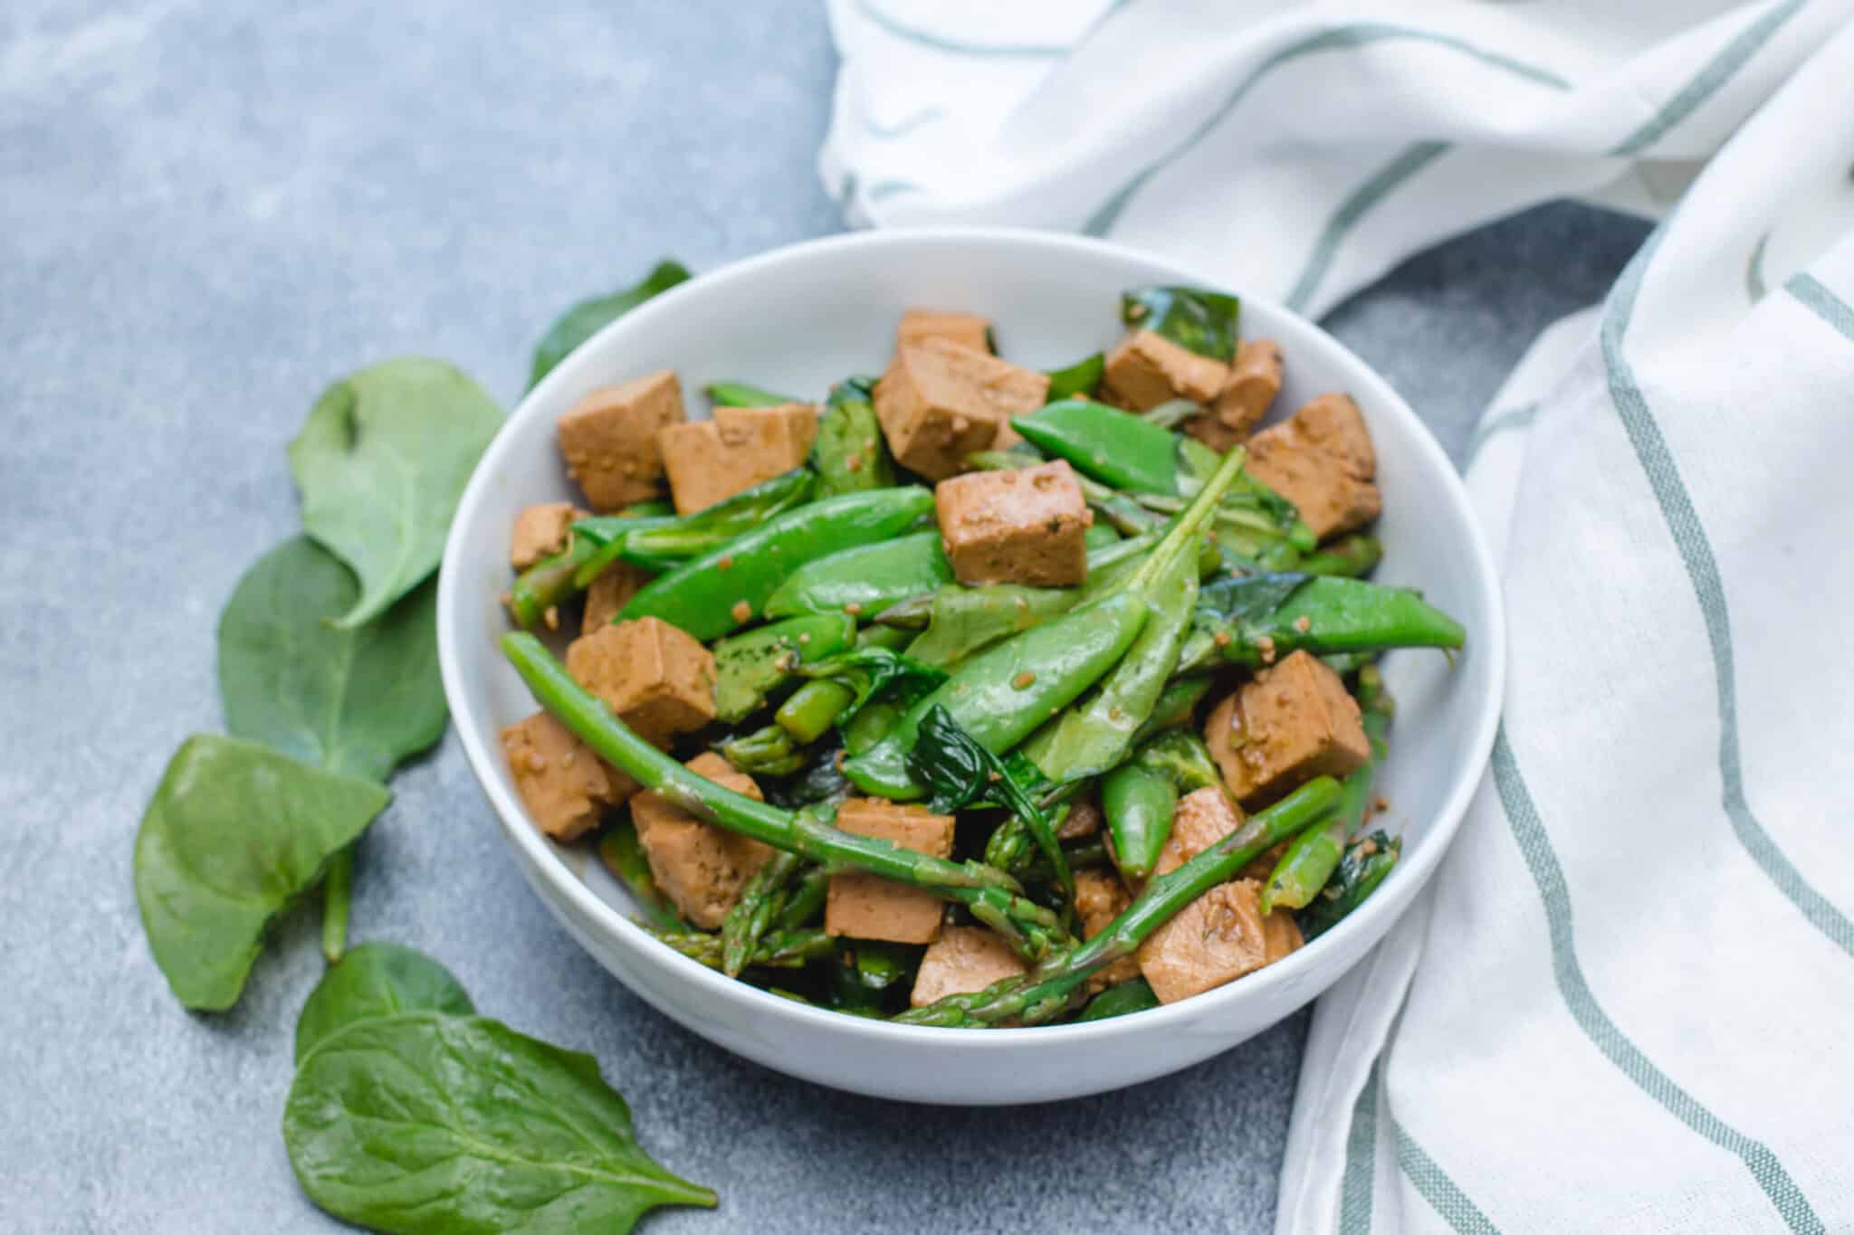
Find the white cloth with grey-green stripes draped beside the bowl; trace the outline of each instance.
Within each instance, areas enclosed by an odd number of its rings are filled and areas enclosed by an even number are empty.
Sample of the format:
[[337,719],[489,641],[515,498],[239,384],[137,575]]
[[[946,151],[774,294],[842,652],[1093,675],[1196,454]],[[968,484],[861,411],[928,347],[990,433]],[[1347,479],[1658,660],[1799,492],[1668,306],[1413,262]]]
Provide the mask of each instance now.
[[1678,200],[1481,424],[1502,733],[1318,1004],[1276,1229],[1854,1229],[1854,4],[831,19],[858,224],[1109,235],[1318,315],[1533,202]]

